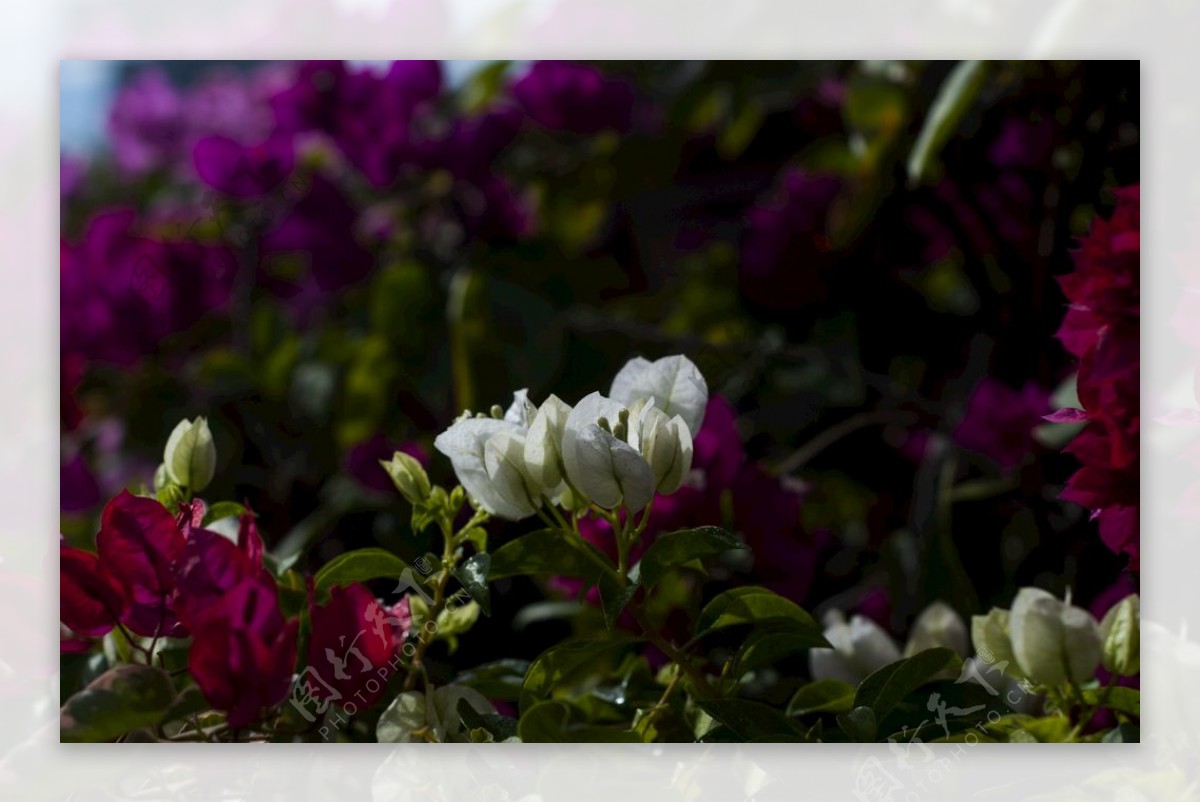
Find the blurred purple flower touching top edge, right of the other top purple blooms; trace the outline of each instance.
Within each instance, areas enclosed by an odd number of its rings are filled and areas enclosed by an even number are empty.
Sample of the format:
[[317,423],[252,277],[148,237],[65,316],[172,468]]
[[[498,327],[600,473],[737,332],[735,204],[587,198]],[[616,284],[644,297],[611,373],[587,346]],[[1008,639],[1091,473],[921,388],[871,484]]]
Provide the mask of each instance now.
[[540,125],[554,131],[628,131],[634,88],[574,61],[539,61],[512,84],[512,96]]

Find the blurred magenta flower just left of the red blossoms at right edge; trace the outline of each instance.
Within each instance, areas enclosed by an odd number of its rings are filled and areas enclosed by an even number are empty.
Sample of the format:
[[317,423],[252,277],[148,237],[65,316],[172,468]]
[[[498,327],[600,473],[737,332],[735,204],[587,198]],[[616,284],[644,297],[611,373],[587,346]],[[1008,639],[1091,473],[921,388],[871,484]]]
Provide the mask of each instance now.
[[1033,430],[1050,409],[1050,391],[1028,382],[1021,390],[985,377],[967,401],[954,431],[959,445],[984,454],[1001,468],[1015,468],[1037,449]]

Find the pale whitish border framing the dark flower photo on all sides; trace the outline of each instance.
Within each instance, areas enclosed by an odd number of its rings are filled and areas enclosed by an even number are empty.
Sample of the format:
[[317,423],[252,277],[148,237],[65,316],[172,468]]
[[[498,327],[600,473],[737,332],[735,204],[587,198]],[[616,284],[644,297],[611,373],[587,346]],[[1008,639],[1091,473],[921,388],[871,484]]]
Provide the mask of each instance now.
[[[1171,326],[1181,272],[1200,260],[1187,0],[37,0],[2,13],[0,798],[869,799],[881,778],[892,799],[1200,795],[1200,505],[1187,503],[1200,426],[1154,421],[1200,408],[1198,354]],[[58,61],[248,56],[1140,58],[1144,743],[906,759],[887,745],[59,745]]]

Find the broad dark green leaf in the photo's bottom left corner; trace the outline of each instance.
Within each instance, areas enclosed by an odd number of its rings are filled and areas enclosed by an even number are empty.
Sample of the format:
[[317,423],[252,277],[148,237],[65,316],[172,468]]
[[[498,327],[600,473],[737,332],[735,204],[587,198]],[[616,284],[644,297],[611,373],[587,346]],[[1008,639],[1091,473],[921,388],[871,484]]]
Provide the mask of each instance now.
[[138,727],[152,727],[175,701],[170,677],[140,664],[112,669],[67,700],[59,714],[64,742],[110,742]]

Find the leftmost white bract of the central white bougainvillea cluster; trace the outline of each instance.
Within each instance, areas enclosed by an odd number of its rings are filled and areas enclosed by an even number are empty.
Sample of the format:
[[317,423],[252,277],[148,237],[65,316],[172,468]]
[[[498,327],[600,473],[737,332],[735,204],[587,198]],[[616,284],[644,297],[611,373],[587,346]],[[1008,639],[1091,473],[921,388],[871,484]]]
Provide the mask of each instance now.
[[524,471],[524,421],[530,408],[521,390],[504,418],[463,415],[433,441],[479,507],[511,521],[532,516],[541,498]]

